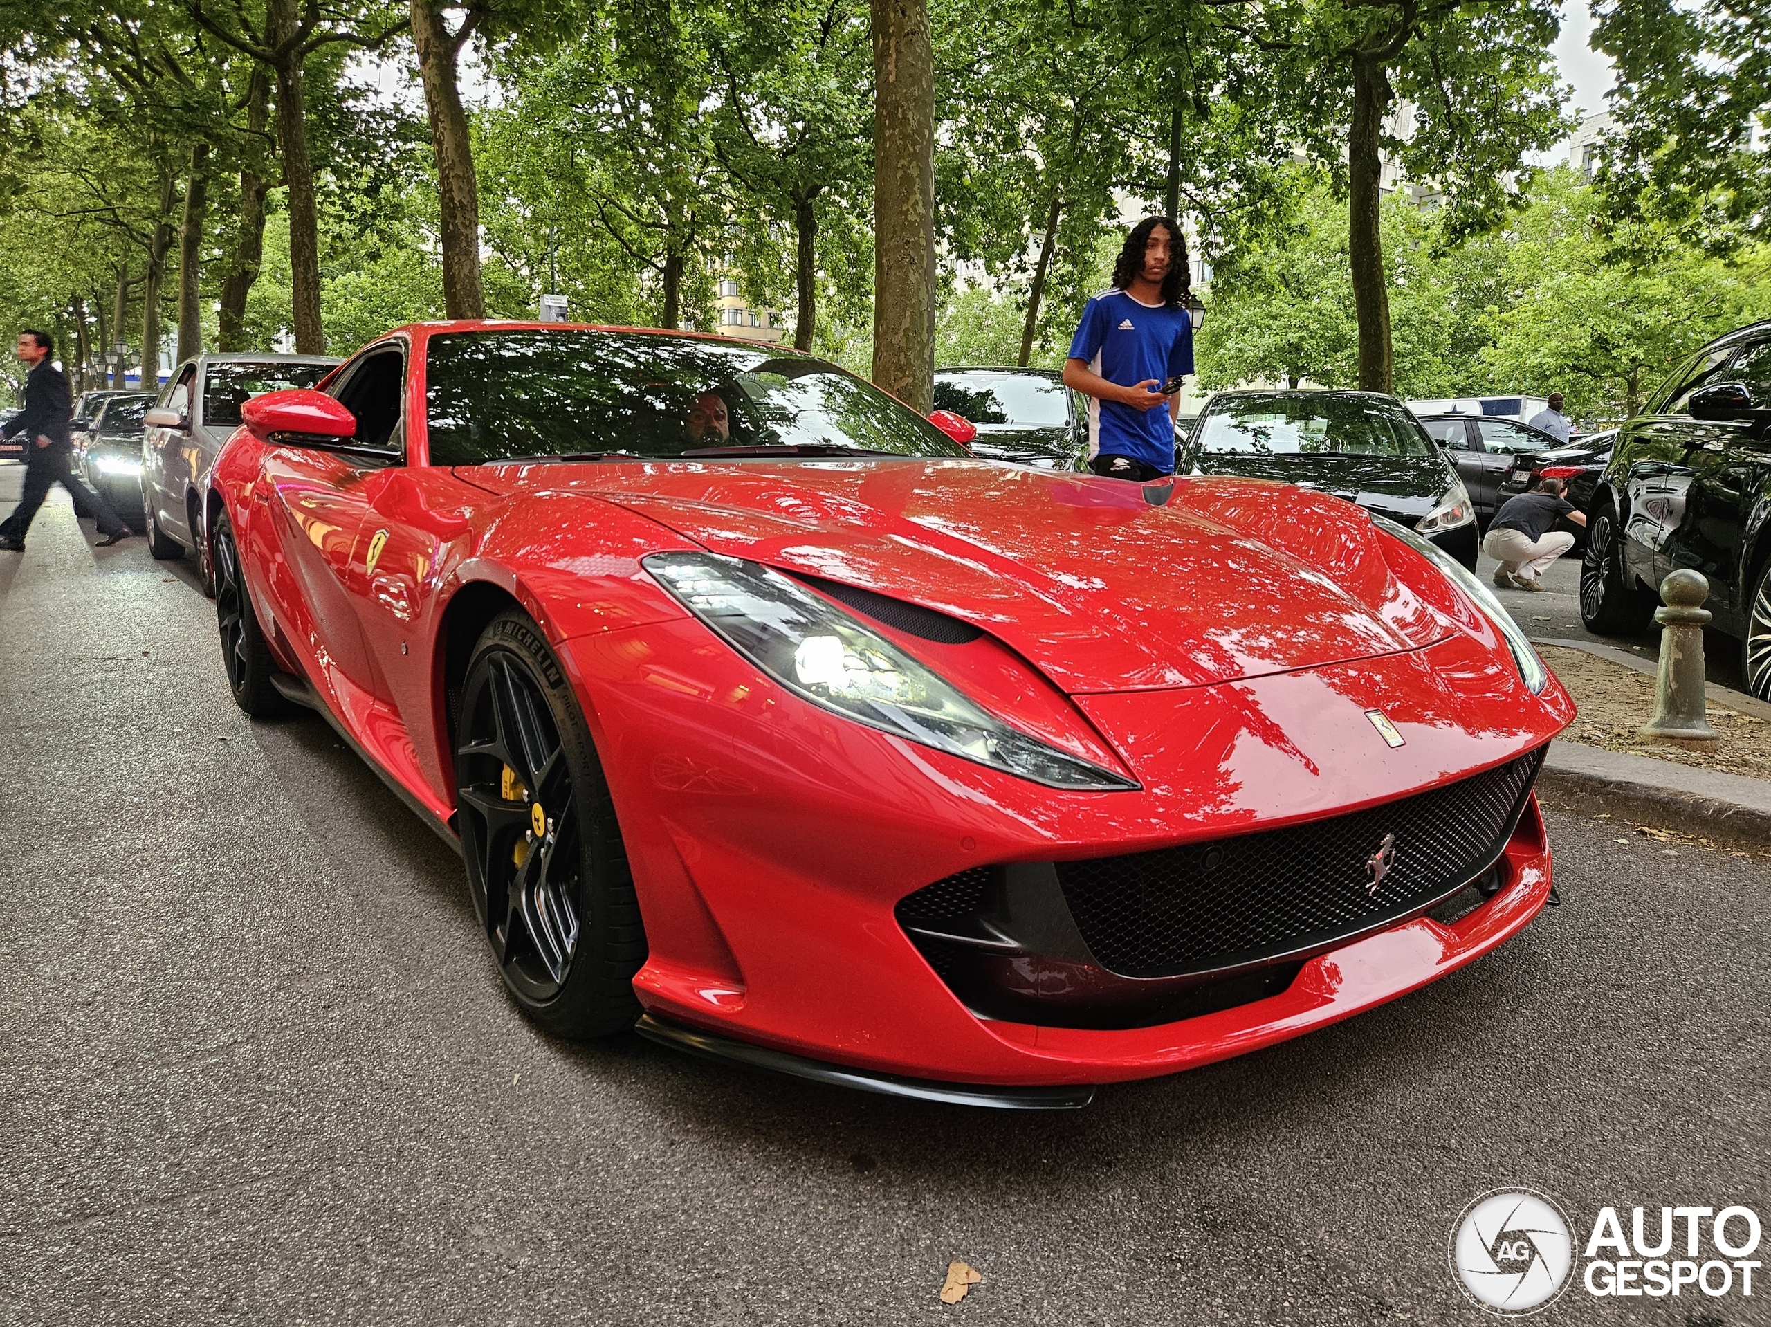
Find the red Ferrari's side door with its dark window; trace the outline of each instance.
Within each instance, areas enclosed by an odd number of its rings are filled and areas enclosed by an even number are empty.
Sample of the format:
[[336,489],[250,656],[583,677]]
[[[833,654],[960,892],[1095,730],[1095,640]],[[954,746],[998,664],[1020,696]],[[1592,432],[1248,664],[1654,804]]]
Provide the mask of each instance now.
[[356,732],[370,721],[384,686],[352,602],[351,555],[368,510],[370,482],[404,461],[398,429],[404,379],[404,342],[363,351],[331,390],[356,416],[356,436],[335,446],[273,448],[253,485],[253,498],[271,508],[283,558],[282,567],[264,569],[273,611],[310,664],[310,677]]

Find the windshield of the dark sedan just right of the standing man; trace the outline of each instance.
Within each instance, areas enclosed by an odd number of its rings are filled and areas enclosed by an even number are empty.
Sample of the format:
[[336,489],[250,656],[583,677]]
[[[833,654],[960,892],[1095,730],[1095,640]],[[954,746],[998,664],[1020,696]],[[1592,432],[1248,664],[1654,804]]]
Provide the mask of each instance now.
[[1273,392],[1213,402],[1199,448],[1222,455],[1433,455],[1415,416],[1380,397]]

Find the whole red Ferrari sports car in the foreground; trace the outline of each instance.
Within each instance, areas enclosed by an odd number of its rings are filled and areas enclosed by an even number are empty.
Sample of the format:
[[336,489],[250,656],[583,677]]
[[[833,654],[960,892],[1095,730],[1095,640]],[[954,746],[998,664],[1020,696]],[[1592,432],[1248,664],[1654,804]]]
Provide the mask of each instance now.
[[319,709],[459,847],[560,1036],[1079,1106],[1550,895],[1567,695],[1351,503],[983,462],[825,361],[611,328],[402,328],[243,418],[236,700]]

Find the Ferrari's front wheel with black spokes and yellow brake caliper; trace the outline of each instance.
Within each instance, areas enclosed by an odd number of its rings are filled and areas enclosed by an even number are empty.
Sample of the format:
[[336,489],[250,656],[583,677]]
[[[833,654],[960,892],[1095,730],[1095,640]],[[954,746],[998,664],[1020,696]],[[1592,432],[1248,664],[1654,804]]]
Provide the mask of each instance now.
[[630,1028],[646,958],[634,877],[572,684],[528,615],[480,634],[455,741],[468,888],[505,989],[558,1036]]

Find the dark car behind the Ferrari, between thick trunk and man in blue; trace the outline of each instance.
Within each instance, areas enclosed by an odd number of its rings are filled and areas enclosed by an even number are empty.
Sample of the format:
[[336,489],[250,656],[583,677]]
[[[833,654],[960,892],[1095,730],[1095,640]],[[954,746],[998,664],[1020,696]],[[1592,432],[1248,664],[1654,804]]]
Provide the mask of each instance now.
[[1087,450],[1087,407],[1045,369],[942,369],[935,409],[971,420],[967,446],[986,461],[1077,469]]

